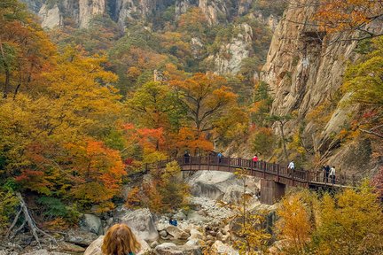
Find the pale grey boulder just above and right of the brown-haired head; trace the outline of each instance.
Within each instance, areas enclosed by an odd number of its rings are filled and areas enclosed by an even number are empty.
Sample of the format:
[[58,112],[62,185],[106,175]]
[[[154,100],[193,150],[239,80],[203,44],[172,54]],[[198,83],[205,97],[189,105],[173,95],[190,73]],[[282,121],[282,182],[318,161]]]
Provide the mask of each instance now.
[[153,215],[149,209],[129,210],[120,207],[116,210],[114,220],[127,224],[137,233],[137,236],[145,241],[152,242],[159,238]]

